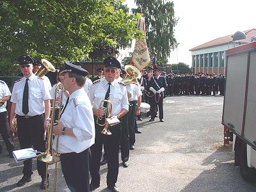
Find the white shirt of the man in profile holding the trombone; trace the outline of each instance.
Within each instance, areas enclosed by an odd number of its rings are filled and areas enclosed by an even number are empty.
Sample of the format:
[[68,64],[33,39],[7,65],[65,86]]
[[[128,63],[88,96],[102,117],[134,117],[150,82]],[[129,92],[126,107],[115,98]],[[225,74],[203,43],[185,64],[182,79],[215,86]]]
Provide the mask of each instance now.
[[[95,128],[92,104],[83,88],[76,90],[69,96],[67,107],[63,112],[60,122],[64,127],[73,128],[74,135],[60,135],[58,152],[83,152],[94,144]],[[56,139],[53,147],[56,149]]]

